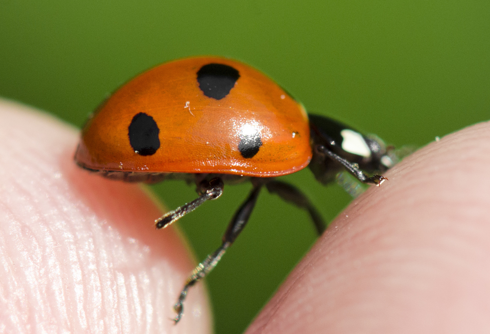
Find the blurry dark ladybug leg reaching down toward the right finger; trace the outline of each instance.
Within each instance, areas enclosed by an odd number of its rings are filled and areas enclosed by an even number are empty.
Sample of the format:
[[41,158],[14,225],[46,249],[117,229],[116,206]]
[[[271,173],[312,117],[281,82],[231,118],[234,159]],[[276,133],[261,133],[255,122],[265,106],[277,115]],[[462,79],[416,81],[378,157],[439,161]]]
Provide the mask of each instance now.
[[325,221],[321,217],[317,208],[313,203],[294,185],[277,180],[266,183],[266,188],[271,194],[277,194],[281,199],[286,202],[293,203],[297,207],[308,211],[311,220],[315,225],[318,235],[321,235],[325,231]]

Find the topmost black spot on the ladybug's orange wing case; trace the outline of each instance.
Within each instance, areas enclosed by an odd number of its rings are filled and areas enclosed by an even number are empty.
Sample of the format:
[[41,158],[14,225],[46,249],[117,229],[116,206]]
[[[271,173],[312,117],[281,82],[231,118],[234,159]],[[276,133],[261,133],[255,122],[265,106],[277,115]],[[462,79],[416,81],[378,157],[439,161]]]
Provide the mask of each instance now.
[[197,71],[197,82],[204,95],[221,100],[240,78],[238,70],[223,64],[204,65]]

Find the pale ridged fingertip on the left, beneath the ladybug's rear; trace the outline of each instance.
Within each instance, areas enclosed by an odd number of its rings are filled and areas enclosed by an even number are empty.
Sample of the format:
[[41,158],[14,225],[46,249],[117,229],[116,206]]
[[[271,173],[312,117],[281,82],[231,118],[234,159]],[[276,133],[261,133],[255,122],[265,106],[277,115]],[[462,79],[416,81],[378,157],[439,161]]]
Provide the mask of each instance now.
[[194,267],[137,184],[73,162],[78,131],[0,101],[0,332],[211,333],[202,284],[174,326]]

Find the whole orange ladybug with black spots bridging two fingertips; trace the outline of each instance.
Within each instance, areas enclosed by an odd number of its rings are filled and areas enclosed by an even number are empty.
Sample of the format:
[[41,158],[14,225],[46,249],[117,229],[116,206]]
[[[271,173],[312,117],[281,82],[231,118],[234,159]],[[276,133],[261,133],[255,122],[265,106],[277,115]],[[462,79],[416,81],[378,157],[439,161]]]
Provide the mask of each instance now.
[[129,182],[185,179],[198,198],[155,221],[165,228],[225,183],[250,181],[252,190],[231,219],[221,246],[201,262],[182,289],[177,323],[190,287],[204,278],[233,244],[266,188],[309,212],[319,234],[325,223],[296,187],[275,177],[309,166],[315,178],[332,182],[347,170],[380,185],[393,159],[381,139],[336,120],[307,114],[288,92],[258,70],[221,57],[173,61],[136,76],[113,93],[87,121],[75,153],[82,168]]

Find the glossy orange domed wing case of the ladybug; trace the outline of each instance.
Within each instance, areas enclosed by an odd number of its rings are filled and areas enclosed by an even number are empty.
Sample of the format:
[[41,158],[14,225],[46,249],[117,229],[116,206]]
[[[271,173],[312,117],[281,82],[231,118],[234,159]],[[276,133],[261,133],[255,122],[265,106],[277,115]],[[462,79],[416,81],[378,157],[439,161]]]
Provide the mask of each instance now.
[[[207,64],[238,71],[222,98],[208,97],[200,88],[196,73]],[[138,114],[157,124],[159,145],[152,154],[135,153],[141,150],[131,145],[127,129]],[[257,152],[253,144],[260,145]],[[105,171],[270,177],[306,167],[311,156],[301,104],[252,67],[200,57],[154,67],[117,90],[83,130],[76,161]]]

